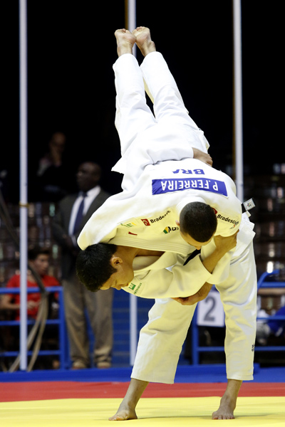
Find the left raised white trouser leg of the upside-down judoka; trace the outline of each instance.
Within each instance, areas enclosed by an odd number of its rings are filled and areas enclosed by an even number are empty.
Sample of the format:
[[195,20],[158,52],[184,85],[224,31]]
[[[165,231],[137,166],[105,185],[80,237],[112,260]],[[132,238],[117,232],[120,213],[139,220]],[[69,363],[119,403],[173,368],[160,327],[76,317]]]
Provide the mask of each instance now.
[[155,125],[156,120],[147,106],[142,73],[135,56],[128,53],[120,56],[113,70],[117,93],[115,126],[123,156],[137,135]]

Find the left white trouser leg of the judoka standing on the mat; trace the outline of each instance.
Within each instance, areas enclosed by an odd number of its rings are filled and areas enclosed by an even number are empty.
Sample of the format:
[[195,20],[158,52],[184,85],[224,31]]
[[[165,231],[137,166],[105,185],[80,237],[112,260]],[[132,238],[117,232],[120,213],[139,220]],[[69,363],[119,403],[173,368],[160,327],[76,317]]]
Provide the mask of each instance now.
[[170,298],[155,300],[147,325],[140,331],[132,378],[173,383],[195,307],[180,305]]

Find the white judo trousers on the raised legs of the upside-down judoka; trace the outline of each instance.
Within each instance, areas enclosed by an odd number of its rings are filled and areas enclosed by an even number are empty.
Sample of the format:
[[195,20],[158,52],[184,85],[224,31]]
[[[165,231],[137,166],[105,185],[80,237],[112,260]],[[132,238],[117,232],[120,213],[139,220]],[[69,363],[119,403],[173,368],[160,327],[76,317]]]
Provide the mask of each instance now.
[[[156,70],[157,75],[147,73],[149,66]],[[147,55],[140,68],[133,55],[125,54],[118,58],[113,68],[117,93],[115,126],[122,154],[113,171],[126,174],[128,167],[133,167],[133,176],[139,176],[140,172],[136,168],[143,171],[143,156],[149,150],[152,150],[154,162],[192,158],[191,147],[207,152],[209,144],[204,132],[189,116],[175,80],[160,53]],[[154,102],[155,116],[147,105],[145,90]],[[139,151],[138,163],[132,155],[135,140]],[[131,164],[128,164],[129,158],[132,159]]]

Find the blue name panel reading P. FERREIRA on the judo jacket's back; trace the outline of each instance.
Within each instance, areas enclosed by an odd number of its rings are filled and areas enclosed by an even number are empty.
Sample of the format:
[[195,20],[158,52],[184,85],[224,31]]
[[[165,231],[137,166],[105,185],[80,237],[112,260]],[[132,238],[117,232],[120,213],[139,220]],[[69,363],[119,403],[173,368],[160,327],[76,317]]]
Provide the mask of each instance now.
[[227,197],[227,187],[223,181],[207,178],[152,179],[152,195],[172,193],[173,191],[203,190]]

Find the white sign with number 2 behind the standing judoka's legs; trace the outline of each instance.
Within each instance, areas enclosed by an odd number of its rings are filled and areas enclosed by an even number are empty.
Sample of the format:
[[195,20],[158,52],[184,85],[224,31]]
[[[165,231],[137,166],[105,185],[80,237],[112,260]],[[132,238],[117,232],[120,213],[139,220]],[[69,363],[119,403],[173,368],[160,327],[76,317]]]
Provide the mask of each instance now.
[[199,326],[224,326],[224,308],[219,292],[211,290],[197,305],[197,325]]

